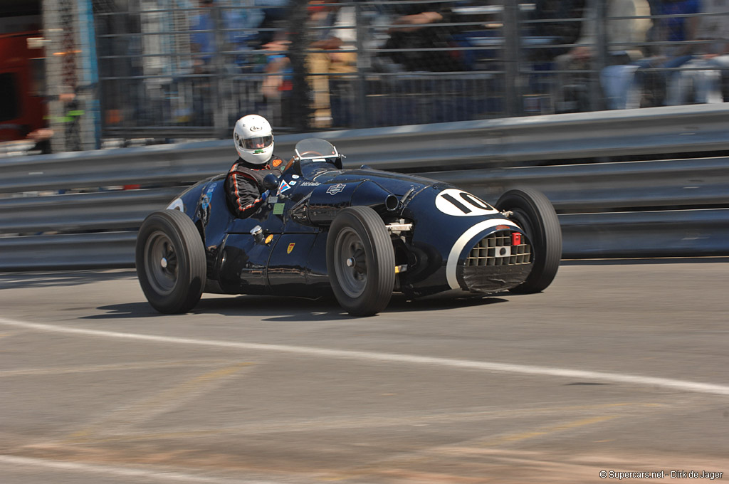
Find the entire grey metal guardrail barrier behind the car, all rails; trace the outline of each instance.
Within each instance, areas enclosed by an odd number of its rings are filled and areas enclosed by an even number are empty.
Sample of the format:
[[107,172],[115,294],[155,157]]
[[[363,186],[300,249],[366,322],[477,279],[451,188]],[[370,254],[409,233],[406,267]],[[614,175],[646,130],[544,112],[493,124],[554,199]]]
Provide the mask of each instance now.
[[[335,131],[279,136],[276,152],[319,136],[346,168],[417,173],[490,202],[534,187],[558,211],[567,259],[720,256],[729,255],[728,115],[681,106]],[[226,171],[231,152],[206,141],[1,160],[0,270],[132,267],[144,216]],[[611,158],[636,153],[665,156]],[[130,184],[139,188],[120,190]]]

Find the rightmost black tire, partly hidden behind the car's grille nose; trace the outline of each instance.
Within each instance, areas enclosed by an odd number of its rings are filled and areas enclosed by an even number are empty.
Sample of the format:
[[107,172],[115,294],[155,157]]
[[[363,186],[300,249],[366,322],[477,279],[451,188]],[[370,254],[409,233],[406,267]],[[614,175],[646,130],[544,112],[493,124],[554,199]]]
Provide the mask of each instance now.
[[543,291],[557,275],[562,259],[562,230],[552,203],[542,192],[522,188],[504,193],[496,208],[512,212],[509,218],[524,229],[534,254],[529,277],[511,291],[522,294]]

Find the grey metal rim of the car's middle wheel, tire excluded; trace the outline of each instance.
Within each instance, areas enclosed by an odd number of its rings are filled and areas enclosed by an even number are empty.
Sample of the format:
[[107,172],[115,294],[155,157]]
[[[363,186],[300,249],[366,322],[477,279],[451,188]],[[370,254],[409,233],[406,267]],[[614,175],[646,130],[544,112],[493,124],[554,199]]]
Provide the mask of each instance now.
[[340,288],[348,297],[361,296],[367,286],[367,254],[353,229],[345,227],[338,233],[334,260]]

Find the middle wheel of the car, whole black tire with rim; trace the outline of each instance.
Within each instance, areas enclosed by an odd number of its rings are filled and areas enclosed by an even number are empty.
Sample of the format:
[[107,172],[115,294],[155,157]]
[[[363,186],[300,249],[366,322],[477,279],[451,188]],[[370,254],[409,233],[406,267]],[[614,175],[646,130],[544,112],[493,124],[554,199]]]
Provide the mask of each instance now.
[[335,297],[351,316],[372,316],[387,307],[395,284],[395,252],[372,208],[344,208],[332,221],[327,272]]

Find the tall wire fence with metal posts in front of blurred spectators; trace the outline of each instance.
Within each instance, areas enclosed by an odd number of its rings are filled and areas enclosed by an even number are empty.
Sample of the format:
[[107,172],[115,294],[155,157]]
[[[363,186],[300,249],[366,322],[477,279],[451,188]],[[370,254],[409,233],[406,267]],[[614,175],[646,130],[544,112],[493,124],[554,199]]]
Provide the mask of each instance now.
[[104,136],[722,102],[720,0],[95,1]]

